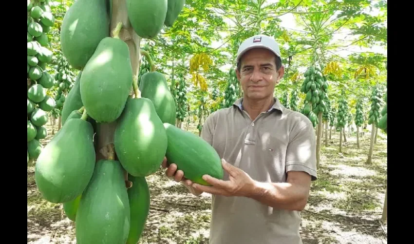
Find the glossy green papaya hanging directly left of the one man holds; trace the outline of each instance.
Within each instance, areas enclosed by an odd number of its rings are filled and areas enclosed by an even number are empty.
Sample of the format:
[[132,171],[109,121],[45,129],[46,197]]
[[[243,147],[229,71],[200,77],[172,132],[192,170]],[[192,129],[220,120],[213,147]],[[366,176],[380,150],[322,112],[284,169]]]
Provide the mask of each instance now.
[[118,160],[131,175],[149,176],[160,168],[167,134],[151,100],[128,99],[113,140]]

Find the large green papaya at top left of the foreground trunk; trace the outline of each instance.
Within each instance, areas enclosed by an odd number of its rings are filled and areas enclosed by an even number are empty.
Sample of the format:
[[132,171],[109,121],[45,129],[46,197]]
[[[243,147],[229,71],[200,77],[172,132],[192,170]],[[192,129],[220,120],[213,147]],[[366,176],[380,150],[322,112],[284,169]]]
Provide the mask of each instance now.
[[106,0],[77,0],[63,17],[60,45],[75,69],[85,67],[99,42],[109,36],[106,7]]

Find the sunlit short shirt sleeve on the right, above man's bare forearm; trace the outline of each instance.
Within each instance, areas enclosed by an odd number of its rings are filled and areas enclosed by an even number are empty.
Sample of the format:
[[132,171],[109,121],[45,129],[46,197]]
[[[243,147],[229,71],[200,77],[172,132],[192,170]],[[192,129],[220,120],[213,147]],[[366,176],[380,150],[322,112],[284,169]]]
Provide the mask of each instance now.
[[312,123],[303,126],[290,140],[286,150],[286,172],[304,171],[317,179],[316,136]]

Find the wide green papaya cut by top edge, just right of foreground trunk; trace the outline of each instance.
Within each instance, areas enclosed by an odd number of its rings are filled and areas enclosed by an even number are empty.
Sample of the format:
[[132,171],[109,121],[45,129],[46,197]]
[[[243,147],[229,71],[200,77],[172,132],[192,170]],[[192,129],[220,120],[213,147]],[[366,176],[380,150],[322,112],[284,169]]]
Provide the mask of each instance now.
[[128,19],[141,38],[152,39],[161,32],[168,0],[126,0]]

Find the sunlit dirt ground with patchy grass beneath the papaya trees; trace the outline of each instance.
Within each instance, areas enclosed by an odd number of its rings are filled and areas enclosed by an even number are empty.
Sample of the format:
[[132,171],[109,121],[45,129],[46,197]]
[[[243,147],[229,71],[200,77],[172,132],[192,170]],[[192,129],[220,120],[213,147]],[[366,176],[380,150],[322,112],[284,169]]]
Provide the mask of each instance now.
[[[57,122],[57,120],[56,120]],[[51,126],[48,123],[48,137]],[[195,129],[195,128],[191,128]],[[198,132],[197,132],[198,134]],[[304,244],[386,244],[387,224],[381,213],[387,185],[387,141],[378,131],[373,163],[366,165],[370,132],[360,138],[347,136],[339,153],[339,133],[329,146],[321,146],[319,179],[312,183],[308,204],[302,211]],[[147,177],[151,211],[139,244],[207,244],[211,197],[192,196],[164,171]],[[27,167],[27,243],[75,244],[75,224],[61,204],[44,201],[34,181],[34,163]]]

